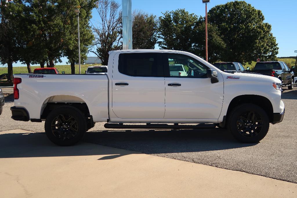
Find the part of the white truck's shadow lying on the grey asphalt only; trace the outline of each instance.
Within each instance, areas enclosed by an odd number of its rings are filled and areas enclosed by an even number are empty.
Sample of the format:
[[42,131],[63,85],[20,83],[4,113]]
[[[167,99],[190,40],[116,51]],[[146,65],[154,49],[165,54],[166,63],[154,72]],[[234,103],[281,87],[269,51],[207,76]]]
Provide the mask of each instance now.
[[254,146],[236,141],[225,129],[104,130],[83,141],[146,154],[217,151]]

